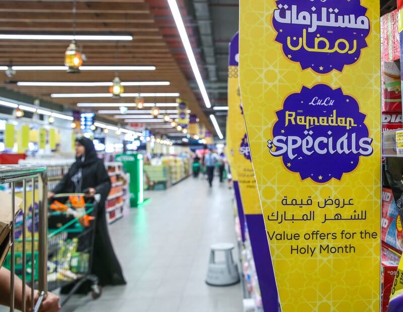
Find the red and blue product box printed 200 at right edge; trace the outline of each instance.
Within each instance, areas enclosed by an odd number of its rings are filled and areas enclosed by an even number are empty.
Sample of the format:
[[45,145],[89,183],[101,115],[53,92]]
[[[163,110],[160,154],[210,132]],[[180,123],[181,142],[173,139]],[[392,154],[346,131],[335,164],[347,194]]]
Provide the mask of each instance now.
[[382,188],[382,241],[403,250],[403,229],[391,189]]

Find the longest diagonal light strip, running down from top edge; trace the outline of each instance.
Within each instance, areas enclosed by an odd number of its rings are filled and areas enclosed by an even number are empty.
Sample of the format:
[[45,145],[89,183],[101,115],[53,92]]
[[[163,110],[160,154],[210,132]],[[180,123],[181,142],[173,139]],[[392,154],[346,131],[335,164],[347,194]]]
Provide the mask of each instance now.
[[171,9],[172,16],[175,20],[176,27],[178,28],[180,38],[182,39],[182,43],[185,48],[187,58],[189,59],[190,66],[193,70],[194,77],[196,78],[197,85],[200,89],[201,96],[203,96],[206,107],[211,108],[209,95],[207,94],[206,87],[203,83],[203,79],[201,78],[196,59],[194,58],[192,47],[190,45],[189,38],[186,33],[185,25],[183,24],[182,17],[180,16],[180,11],[176,3],[176,0],[168,0],[168,4],[169,8]]

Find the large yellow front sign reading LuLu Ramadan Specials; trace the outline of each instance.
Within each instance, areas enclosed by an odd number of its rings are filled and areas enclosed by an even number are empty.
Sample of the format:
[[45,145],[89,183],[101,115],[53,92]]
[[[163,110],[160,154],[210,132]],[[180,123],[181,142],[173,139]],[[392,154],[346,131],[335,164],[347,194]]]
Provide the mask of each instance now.
[[379,311],[379,1],[241,0],[240,90],[283,312]]

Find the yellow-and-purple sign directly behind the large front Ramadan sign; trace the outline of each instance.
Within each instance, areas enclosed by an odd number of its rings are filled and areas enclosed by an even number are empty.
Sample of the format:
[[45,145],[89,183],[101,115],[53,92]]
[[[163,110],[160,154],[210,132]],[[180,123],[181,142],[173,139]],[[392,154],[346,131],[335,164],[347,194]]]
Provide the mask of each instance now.
[[[270,251],[264,228],[264,220],[256,187],[246,135],[245,120],[238,74],[239,35],[232,38],[229,47],[228,66],[228,124],[227,144],[241,231],[245,231],[252,247],[257,279],[264,311],[278,311],[276,281],[271,264]],[[230,138],[228,140],[228,137]],[[242,233],[244,235],[244,233]]]

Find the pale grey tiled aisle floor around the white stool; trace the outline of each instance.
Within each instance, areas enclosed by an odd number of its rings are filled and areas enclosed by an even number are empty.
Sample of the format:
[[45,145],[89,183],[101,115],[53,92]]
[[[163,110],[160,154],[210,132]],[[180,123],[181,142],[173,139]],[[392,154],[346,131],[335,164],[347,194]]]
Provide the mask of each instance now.
[[[210,244],[234,242],[231,191],[217,179],[188,178],[110,228],[127,280],[99,300],[72,299],[65,311],[238,312],[240,285],[205,284]],[[235,255],[235,254],[234,254]],[[105,268],[107,270],[107,268]],[[76,302],[74,302],[76,301]]]

